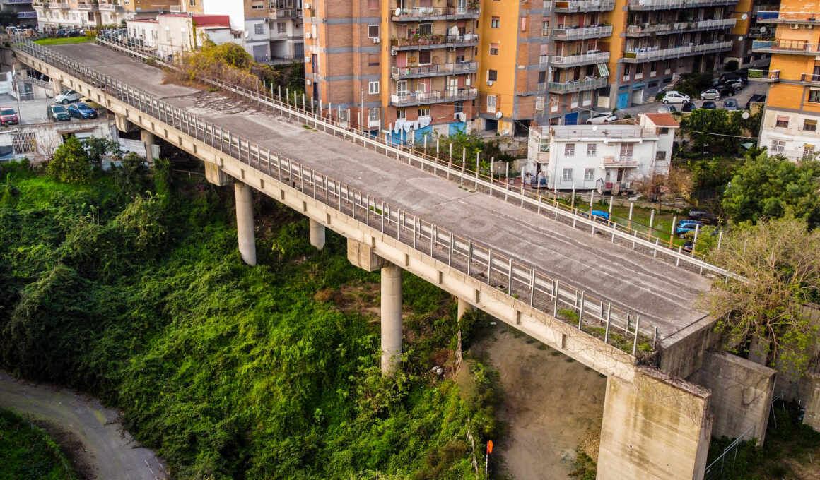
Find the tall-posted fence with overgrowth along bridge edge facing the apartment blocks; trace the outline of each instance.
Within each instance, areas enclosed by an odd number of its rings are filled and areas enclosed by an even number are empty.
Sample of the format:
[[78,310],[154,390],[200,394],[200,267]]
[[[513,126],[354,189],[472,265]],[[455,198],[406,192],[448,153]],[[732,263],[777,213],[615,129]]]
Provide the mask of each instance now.
[[[115,48],[120,52],[136,57],[141,60],[150,60],[155,64],[164,66],[169,69],[175,69],[175,66],[166,61],[161,61],[156,57],[146,56],[143,52],[135,51],[125,45],[117,44],[110,40],[97,39],[98,43],[103,43],[110,48]],[[661,259],[672,260],[676,266],[684,265],[692,271],[699,272],[699,274],[716,275],[723,278],[742,279],[740,276],[729,272],[726,269],[711,265],[704,260],[702,256],[698,257],[693,251],[683,251],[682,246],[674,245],[672,237],[675,236],[675,227],[669,233],[660,232],[658,229],[649,228],[649,232],[645,232],[645,225],[637,222],[628,221],[626,224],[617,224],[608,222],[600,224],[590,219],[587,209],[578,209],[574,205],[563,205],[558,201],[557,192],[553,192],[550,196],[549,192],[544,196],[540,189],[526,190],[524,184],[520,188],[510,188],[508,183],[500,183],[494,181],[487,169],[482,173],[481,162],[467,160],[467,152],[462,151],[462,155],[458,156],[458,152],[445,151],[440,152],[438,143],[435,148],[433,145],[428,145],[427,137],[424,143],[399,143],[396,138],[390,137],[388,134],[378,133],[373,134],[369,131],[362,131],[348,128],[351,124],[350,118],[339,118],[335,115],[335,111],[329,106],[318,105],[316,109],[315,103],[306,102],[303,95],[301,105],[299,108],[298,97],[296,94],[286,97],[277,96],[273,87],[268,91],[266,88],[258,88],[257,90],[249,90],[247,88],[237,87],[231,84],[225,84],[219,79],[200,78],[201,81],[211,84],[213,86],[222,88],[223,90],[234,93],[241,97],[245,97],[254,104],[261,106],[268,106],[282,115],[295,117],[299,120],[319,125],[318,128],[324,129],[328,134],[333,134],[336,137],[344,138],[349,142],[361,144],[363,147],[370,147],[374,151],[382,151],[386,156],[395,156],[397,160],[403,160],[408,165],[418,165],[421,170],[429,171],[433,174],[446,176],[448,179],[454,177],[460,183],[471,183],[478,192],[489,193],[494,197],[503,198],[507,202],[518,204],[531,212],[543,215],[553,215],[554,220],[561,221],[563,224],[572,225],[575,228],[591,229],[592,233],[602,233],[611,236],[613,243],[618,242],[621,245],[630,246],[632,250],[641,251],[645,254]],[[318,110],[318,113],[317,113]],[[344,111],[342,111],[344,113]],[[435,152],[435,155],[433,155]],[[486,159],[485,159],[486,160]],[[473,165],[479,165],[475,168]],[[634,227],[634,228],[633,228]],[[649,226],[651,227],[651,225]],[[695,245],[697,242],[695,242]]]

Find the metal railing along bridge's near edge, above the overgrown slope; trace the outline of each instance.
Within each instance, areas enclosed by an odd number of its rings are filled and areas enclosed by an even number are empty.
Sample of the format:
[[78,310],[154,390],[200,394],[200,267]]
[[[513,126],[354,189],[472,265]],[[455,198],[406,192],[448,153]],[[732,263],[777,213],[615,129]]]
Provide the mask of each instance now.
[[[293,159],[271,152],[247,138],[216,127],[197,115],[171,106],[138,88],[122,84],[121,81],[100,74],[60,53],[52,52],[30,41],[17,41],[14,47],[20,52],[28,53],[52,66],[70,72],[76,78],[95,88],[102,88],[107,94],[120,99],[121,102],[125,102],[146,115],[170,125],[180,133],[196,138],[271,178],[278,179],[281,183],[297,188],[300,192],[353,220],[380,230],[404,245],[446,263],[471,278],[480,279],[512,298],[526,302],[555,318],[564,319],[585,333],[600,337],[608,344],[624,351],[629,351],[631,347],[632,355],[637,355],[639,346],[642,354],[654,350],[657,346],[658,329],[647,326],[648,322],[642,322],[640,315],[633,315],[613,306],[612,302],[586,295],[585,292],[569,287],[558,279],[540,274],[512,257],[499,254],[490,247],[472,242],[469,238],[464,238],[417,215],[392,206],[385,200],[371,197],[358,188],[350,187],[326,174],[301,165]],[[224,88],[230,89],[227,85]],[[266,102],[271,101],[269,98],[256,96],[251,92],[248,92],[248,95],[260,105],[266,105]],[[312,125],[315,129],[325,131],[335,129],[343,134],[351,134],[344,129],[327,124],[317,115],[304,111],[298,113],[307,125]],[[394,147],[385,145],[384,148],[385,153],[391,151],[401,153]],[[412,164],[412,161],[415,161],[414,156],[406,156],[406,158],[408,163]],[[454,174],[453,170],[448,169],[447,176],[451,174]],[[461,179],[463,181],[465,176],[461,176]]]

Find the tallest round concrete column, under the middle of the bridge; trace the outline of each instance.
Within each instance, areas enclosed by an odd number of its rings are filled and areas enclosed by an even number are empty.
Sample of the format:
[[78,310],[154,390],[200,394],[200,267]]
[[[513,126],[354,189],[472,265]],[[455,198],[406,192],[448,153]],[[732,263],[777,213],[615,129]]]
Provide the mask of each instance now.
[[392,377],[402,355],[402,269],[381,269],[381,374]]

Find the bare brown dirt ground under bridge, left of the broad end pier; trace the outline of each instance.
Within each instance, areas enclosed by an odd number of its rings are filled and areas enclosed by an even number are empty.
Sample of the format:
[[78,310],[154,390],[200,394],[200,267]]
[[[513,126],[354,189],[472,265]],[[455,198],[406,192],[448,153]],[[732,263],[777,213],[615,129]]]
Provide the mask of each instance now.
[[499,371],[506,437],[495,445],[504,472],[526,480],[565,480],[576,448],[597,459],[606,378],[501,322],[471,351]]

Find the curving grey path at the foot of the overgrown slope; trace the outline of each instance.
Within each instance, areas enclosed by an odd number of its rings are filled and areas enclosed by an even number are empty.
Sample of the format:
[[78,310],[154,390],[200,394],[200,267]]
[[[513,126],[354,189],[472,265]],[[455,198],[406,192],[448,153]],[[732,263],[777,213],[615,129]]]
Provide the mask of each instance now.
[[63,446],[78,473],[99,480],[167,478],[157,455],[122,428],[117,410],[66,389],[16,380],[0,372],[0,407],[28,415]]

